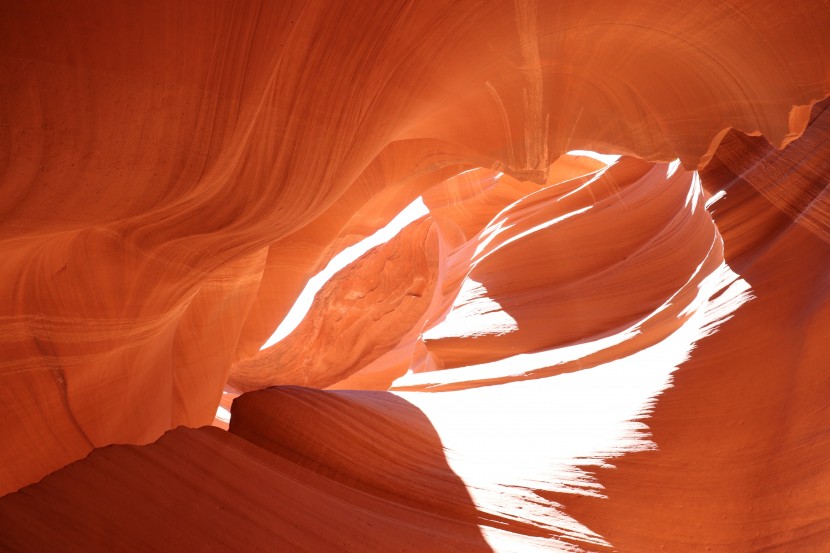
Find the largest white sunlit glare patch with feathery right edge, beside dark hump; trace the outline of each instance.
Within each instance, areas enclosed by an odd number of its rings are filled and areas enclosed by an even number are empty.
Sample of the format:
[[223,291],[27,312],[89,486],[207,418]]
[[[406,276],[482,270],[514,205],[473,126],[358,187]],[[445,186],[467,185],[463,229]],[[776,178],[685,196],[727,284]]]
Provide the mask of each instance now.
[[[696,287],[675,332],[608,363],[496,386],[393,393],[429,418],[447,463],[484,513],[482,520],[493,514],[583,544],[608,546],[550,494],[605,497],[597,468],[658,447],[646,423],[657,398],[672,386],[672,373],[689,359],[698,340],[752,298],[749,284],[726,263]],[[514,361],[527,368],[536,355]],[[523,367],[503,368],[519,374]],[[501,532],[497,525],[482,524],[482,533],[494,550],[544,550],[542,543],[517,544],[522,536]],[[584,550],[569,547],[563,541],[550,549]]]

